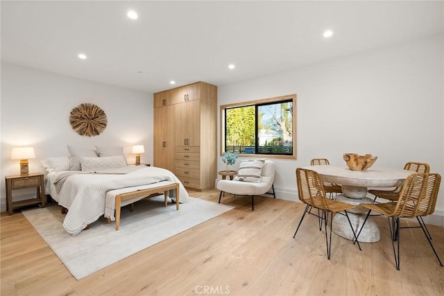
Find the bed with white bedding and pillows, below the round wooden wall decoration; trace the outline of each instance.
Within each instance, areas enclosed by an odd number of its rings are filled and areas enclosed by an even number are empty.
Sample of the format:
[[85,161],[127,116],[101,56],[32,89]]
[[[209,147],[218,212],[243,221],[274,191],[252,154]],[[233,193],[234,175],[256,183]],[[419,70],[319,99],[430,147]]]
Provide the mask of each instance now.
[[[96,157],[94,162],[105,157]],[[106,157],[108,159],[108,157]],[[55,160],[56,159],[56,160]],[[114,220],[114,204],[106,204],[106,193],[114,189],[155,184],[169,181],[179,183],[180,202],[188,202],[188,193],[178,177],[171,171],[154,166],[127,166],[118,168],[99,166],[98,168],[72,170],[67,168],[69,157],[53,157],[42,162],[46,168],[45,193],[51,195],[60,206],[68,209],[63,227],[72,235],[79,234],[87,225],[101,216]],[[89,161],[89,157],[80,157]],[[50,161],[53,164],[49,164]],[[71,159],[68,160],[70,162]],[[54,163],[60,164],[58,167]],[[63,162],[63,164],[62,164]],[[173,191],[171,191],[173,193]],[[170,195],[174,200],[174,196]]]

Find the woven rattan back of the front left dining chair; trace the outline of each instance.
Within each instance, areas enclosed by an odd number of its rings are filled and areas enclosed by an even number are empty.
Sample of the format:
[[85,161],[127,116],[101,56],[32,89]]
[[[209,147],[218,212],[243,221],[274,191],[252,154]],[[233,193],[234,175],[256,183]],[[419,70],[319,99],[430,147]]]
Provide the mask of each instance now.
[[298,183],[298,196],[301,202],[329,211],[325,189],[316,171],[306,168],[296,168],[296,182]]

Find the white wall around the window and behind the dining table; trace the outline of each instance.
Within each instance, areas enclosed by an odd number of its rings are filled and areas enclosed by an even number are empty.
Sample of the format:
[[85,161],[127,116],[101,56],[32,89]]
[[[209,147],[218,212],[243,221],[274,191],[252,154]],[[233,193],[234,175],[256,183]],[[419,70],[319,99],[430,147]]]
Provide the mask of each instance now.
[[[444,175],[443,52],[439,35],[219,85],[219,105],[297,94],[297,159],[275,160],[284,199],[297,200],[295,169],[316,157],[344,164],[343,153],[370,153],[378,156],[374,167],[427,162]],[[429,220],[441,226],[443,183]]]

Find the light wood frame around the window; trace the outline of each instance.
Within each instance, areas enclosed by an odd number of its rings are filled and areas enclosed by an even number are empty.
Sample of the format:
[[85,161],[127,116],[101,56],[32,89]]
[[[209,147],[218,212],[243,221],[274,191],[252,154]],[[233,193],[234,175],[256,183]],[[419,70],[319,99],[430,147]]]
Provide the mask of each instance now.
[[[275,158],[275,159],[296,159],[296,151],[297,151],[297,137],[296,137],[296,119],[297,119],[297,108],[296,108],[296,94],[289,94],[287,96],[277,96],[273,98],[263,98],[255,101],[247,101],[247,102],[241,102],[241,103],[232,103],[228,105],[221,105],[220,107],[220,155],[223,155],[223,152],[225,152],[225,109],[233,108],[233,107],[247,107],[254,105],[257,107],[257,105],[262,104],[268,104],[268,103],[279,103],[284,101],[291,100],[293,103],[293,154],[292,155],[277,155],[277,154],[246,154],[242,153],[239,154],[240,157],[265,157],[265,158]],[[256,124],[257,128],[257,124]]]

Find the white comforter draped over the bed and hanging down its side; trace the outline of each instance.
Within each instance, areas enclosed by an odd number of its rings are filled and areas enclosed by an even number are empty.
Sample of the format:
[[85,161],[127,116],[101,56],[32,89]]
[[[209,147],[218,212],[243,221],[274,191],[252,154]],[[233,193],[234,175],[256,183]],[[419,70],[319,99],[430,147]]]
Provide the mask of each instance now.
[[[58,172],[60,173],[60,172]],[[47,176],[55,180],[56,176]],[[76,174],[65,180],[57,196],[55,186],[51,185],[51,196],[62,207],[68,209],[63,227],[70,234],[76,235],[87,225],[99,219],[105,213],[105,196],[110,190],[130,186],[153,184],[161,181],[180,184],[180,202],[188,202],[188,193],[178,177],[164,168],[144,166],[124,175],[113,174]]]

